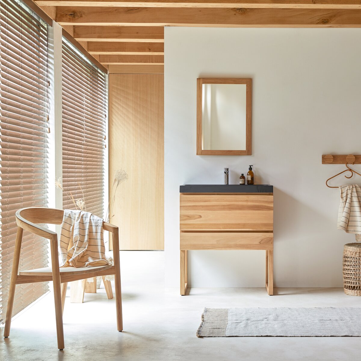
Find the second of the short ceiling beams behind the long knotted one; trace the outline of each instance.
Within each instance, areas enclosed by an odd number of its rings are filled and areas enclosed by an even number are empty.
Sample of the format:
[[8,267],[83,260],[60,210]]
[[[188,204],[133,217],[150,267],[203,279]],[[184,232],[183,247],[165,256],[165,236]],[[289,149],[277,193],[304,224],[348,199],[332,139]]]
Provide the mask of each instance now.
[[164,43],[88,42],[90,54],[164,55]]

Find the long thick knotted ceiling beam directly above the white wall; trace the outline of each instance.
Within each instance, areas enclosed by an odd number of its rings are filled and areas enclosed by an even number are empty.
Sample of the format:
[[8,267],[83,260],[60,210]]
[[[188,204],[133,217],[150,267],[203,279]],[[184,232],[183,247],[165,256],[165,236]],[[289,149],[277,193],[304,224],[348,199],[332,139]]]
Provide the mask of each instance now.
[[61,25],[361,27],[361,10],[57,7]]

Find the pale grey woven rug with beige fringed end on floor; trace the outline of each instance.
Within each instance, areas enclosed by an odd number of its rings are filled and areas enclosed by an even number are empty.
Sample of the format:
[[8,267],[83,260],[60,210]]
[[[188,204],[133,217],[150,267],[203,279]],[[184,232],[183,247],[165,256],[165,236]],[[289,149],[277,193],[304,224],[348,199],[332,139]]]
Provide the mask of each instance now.
[[361,308],[205,308],[197,336],[361,336]]

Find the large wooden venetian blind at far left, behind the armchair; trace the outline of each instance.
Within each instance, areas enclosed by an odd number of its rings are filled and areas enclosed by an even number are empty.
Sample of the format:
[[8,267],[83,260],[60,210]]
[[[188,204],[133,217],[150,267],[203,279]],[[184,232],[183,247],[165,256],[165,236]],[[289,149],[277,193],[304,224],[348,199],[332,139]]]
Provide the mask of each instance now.
[[[47,206],[48,25],[16,0],[0,1],[0,321],[5,318],[15,212]],[[24,231],[19,269],[46,267],[48,242]],[[17,285],[18,313],[48,290]]]

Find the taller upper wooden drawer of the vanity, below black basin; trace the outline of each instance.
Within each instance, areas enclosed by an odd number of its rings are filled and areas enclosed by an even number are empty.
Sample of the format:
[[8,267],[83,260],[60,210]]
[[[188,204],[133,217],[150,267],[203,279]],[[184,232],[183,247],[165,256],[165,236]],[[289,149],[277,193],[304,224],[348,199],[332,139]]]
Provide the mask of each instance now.
[[181,193],[180,229],[181,231],[273,231],[273,195]]

